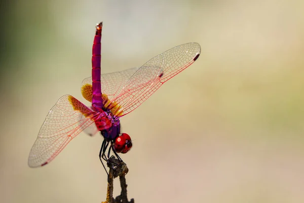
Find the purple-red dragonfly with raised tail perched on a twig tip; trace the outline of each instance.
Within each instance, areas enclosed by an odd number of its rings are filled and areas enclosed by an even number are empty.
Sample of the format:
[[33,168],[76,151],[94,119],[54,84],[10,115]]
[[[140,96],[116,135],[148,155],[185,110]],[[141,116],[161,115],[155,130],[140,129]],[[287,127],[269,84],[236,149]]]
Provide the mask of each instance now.
[[101,74],[101,32],[102,22],[96,25],[92,77],[84,79],[81,86],[82,95],[90,101],[91,107],[71,95],[60,97],[31,148],[30,167],[50,163],[82,131],[91,136],[100,132],[103,136],[99,152],[101,162],[109,159],[111,150],[121,160],[118,153],[127,153],[132,148],[132,140],[129,134],[121,132],[120,118],[194,63],[201,52],[198,43],[187,43],[155,56],[139,68]]

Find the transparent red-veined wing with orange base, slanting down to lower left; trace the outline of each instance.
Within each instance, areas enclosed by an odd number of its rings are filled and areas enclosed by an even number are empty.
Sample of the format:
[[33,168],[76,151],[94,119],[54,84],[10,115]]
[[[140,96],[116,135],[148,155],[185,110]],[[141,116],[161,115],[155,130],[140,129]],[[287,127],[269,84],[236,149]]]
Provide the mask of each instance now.
[[37,167],[49,163],[75,136],[86,127],[95,125],[94,120],[100,117],[100,113],[92,111],[73,96],[62,96],[41,126],[30,151],[28,165]]

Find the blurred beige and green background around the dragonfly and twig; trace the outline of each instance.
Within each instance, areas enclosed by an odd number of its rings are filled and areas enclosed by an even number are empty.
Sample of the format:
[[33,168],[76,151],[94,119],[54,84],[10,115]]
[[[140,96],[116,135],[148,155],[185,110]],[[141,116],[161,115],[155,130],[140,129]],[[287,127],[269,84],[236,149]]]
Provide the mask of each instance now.
[[[81,133],[29,168],[57,99],[102,73],[198,42],[201,56],[121,119],[135,202],[304,201],[303,1],[2,1],[1,202],[101,202],[102,137]],[[120,193],[119,181],[115,193]]]

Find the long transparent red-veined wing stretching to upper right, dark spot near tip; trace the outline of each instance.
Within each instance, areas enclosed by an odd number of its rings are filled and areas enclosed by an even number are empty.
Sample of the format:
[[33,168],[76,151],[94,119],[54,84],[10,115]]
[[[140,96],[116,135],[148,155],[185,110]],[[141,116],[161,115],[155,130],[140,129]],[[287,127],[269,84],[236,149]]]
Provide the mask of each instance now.
[[116,115],[124,116],[145,101],[170,78],[186,69],[199,57],[198,43],[183,44],[150,59],[128,80],[121,92],[115,93],[112,104],[118,105]]

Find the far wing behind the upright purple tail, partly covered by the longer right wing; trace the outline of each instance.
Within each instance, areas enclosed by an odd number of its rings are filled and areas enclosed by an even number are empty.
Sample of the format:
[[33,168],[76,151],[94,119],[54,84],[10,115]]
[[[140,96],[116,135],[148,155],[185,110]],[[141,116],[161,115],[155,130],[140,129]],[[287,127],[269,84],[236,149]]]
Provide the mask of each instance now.
[[[111,100],[112,96],[120,91],[132,75],[138,70],[133,67],[125,71],[107,73],[101,75],[101,92]],[[92,77],[85,78],[81,85],[81,92],[85,99],[92,102]]]

